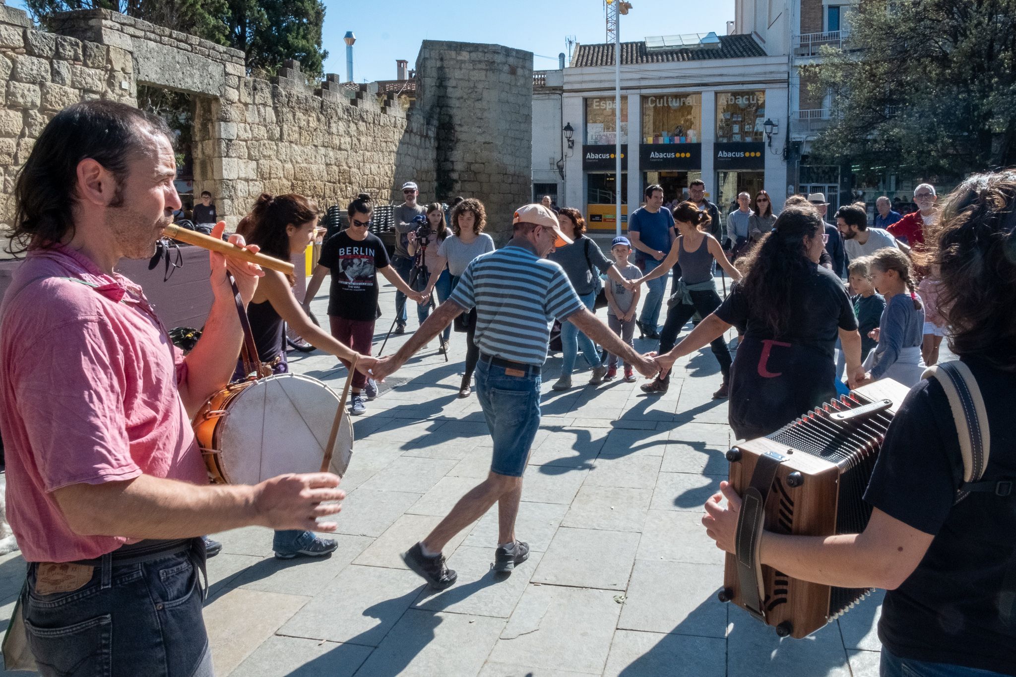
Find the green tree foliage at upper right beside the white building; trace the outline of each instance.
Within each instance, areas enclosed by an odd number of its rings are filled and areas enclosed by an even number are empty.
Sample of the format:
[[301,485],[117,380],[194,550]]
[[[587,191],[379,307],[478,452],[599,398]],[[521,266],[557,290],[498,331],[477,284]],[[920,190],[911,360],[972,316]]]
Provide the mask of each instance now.
[[1016,163],[1016,0],[864,0],[845,49],[810,66],[832,93],[826,158],[961,176]]

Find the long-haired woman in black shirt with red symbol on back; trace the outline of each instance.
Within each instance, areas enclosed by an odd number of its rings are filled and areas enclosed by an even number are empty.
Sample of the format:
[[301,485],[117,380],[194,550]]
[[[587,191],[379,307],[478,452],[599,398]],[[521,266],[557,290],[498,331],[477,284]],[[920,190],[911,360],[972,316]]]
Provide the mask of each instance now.
[[744,331],[731,368],[729,422],[742,439],[768,434],[836,394],[833,347],[842,341],[847,374],[864,378],[861,335],[843,283],[819,265],[822,218],[790,206],[748,255],[744,277],[714,313],[657,357],[674,361],[722,336]]

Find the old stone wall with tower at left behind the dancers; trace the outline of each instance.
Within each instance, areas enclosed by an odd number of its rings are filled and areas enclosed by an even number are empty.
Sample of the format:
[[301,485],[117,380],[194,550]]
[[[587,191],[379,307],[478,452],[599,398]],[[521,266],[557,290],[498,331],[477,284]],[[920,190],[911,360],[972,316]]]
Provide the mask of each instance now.
[[261,192],[304,193],[322,207],[369,192],[384,204],[400,202],[411,180],[422,202],[484,200],[503,241],[505,216],[528,201],[530,53],[425,42],[406,112],[336,75],[311,81],[295,61],[271,81],[248,76],[237,50],[108,10],[67,12],[54,25],[57,35],[36,30],[0,0],[5,226],[14,177],[46,122],[88,98],[136,105],[142,84],[192,94],[194,190],[210,191],[230,225]]

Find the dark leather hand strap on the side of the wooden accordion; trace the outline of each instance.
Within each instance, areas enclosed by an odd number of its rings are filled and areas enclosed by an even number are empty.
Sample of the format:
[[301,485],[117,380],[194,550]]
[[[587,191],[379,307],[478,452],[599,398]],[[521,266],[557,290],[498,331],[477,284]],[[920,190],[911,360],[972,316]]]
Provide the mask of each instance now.
[[738,586],[745,609],[765,621],[765,602],[762,587],[762,562],[759,561],[759,543],[765,523],[765,503],[776,477],[776,469],[786,457],[775,452],[761,455],[752,473],[752,483],[742,497],[741,515],[735,538],[738,561]]

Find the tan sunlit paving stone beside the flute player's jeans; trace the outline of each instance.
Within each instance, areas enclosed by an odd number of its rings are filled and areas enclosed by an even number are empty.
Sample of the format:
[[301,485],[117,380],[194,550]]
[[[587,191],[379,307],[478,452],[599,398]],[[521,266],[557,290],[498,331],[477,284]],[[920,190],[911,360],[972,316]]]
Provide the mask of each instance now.
[[309,597],[234,588],[204,608],[215,674],[228,675],[293,617]]

